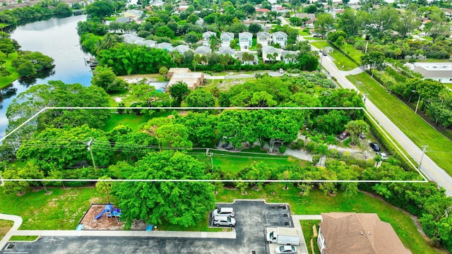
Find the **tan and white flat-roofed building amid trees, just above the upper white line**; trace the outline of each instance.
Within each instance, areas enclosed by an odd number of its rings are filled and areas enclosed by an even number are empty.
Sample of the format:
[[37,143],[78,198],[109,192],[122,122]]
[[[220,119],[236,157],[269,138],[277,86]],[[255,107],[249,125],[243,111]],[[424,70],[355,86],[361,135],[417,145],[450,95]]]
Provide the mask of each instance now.
[[169,78],[166,92],[169,91],[169,87],[182,81],[186,83],[190,90],[195,90],[198,85],[201,85],[204,80],[204,73],[191,72],[189,68],[169,68],[167,73]]

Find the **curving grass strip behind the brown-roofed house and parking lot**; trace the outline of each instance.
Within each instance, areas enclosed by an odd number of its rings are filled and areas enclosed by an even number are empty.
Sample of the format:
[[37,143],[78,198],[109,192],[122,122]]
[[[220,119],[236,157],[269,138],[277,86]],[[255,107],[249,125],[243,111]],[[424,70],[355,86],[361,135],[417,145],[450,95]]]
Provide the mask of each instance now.
[[[272,195],[272,191],[275,192],[275,195]],[[393,226],[400,240],[412,253],[441,253],[440,250],[429,246],[427,241],[417,231],[414,222],[408,214],[364,193],[358,193],[354,197],[347,197],[342,193],[338,193],[335,197],[331,197],[324,195],[321,191],[311,191],[308,196],[302,196],[299,195],[298,188],[290,187],[289,190],[283,191],[282,183],[273,183],[266,186],[263,191],[248,191],[248,195],[242,195],[239,191],[224,190],[217,196],[217,201],[232,202],[232,200],[237,198],[260,198],[266,199],[267,202],[288,202],[292,214],[376,212],[383,222],[388,222]]]

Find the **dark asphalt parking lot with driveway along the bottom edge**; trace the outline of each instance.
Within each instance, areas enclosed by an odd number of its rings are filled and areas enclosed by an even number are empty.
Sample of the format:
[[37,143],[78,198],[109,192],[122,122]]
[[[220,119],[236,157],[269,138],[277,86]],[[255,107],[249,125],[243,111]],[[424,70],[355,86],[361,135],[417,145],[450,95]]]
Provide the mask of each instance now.
[[[268,254],[266,228],[293,226],[290,208],[285,204],[266,204],[262,200],[236,200],[218,207],[233,207],[237,221],[235,239],[158,238],[158,237],[54,237],[35,242],[12,243],[1,253],[234,253]],[[274,253],[274,251],[272,252]]]

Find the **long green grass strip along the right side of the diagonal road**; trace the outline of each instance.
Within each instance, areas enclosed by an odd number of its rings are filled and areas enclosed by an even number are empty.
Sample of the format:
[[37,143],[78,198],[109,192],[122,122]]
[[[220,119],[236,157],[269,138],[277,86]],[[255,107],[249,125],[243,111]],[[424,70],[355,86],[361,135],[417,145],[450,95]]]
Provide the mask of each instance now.
[[[429,145],[427,155],[438,164],[439,167],[452,175],[452,156],[447,147],[452,147],[452,141],[441,135],[436,129],[429,126],[412,109],[400,102],[395,96],[388,96],[386,89],[376,83],[367,73],[347,76],[350,82],[356,85],[361,92],[369,93],[368,98],[376,105],[393,123],[400,128],[405,135],[419,147]],[[422,135],[420,135],[422,133]],[[433,152],[429,152],[433,151]]]

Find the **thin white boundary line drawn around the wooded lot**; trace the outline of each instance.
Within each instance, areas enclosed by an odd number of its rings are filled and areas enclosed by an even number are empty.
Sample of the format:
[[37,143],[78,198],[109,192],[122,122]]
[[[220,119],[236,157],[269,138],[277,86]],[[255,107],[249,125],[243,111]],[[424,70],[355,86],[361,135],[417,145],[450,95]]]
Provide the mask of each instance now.
[[363,110],[367,116],[369,116],[369,119],[373,121],[376,126],[379,127],[380,131],[386,135],[386,138],[391,141],[391,143],[397,148],[397,150],[400,152],[405,159],[410,163],[410,165],[417,171],[420,176],[422,176],[422,179],[424,180],[416,180],[416,181],[391,181],[391,180],[381,180],[381,181],[367,181],[367,180],[201,180],[201,179],[3,179],[3,181],[137,181],[137,182],[264,182],[264,183],[274,183],[274,182],[280,182],[280,183],[427,183],[429,180],[422,174],[422,172],[417,169],[415,164],[411,162],[411,160],[408,158],[407,155],[405,155],[405,152],[398,147],[398,145],[393,141],[390,135],[386,133],[386,131],[381,128],[379,123],[375,121],[373,117],[369,114],[369,112],[364,109],[363,107],[44,107],[44,109],[41,109],[39,112],[37,112],[35,115],[31,116],[30,119],[23,122],[18,126],[17,128],[13,129],[10,133],[6,134],[3,138],[0,139],[0,142],[3,142],[8,136],[18,131],[18,129],[22,128],[25,124],[32,121],[32,119],[35,119],[36,116],[41,114],[43,111],[46,111],[47,109],[173,109],[173,110],[185,110],[185,109],[341,109],[341,110],[350,110],[350,109],[359,109]]

